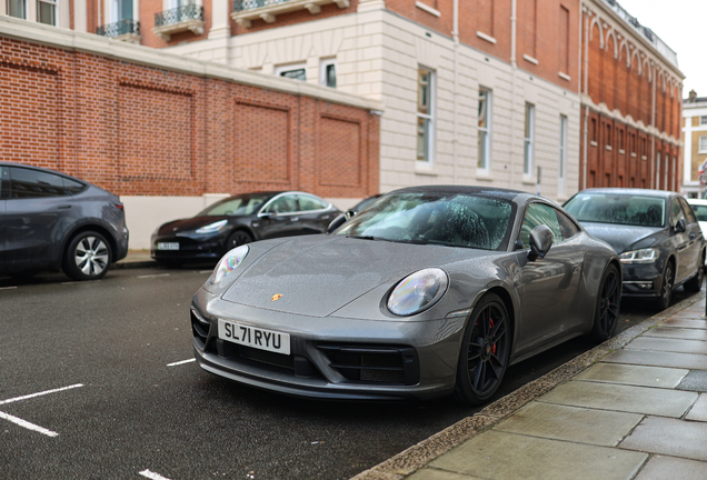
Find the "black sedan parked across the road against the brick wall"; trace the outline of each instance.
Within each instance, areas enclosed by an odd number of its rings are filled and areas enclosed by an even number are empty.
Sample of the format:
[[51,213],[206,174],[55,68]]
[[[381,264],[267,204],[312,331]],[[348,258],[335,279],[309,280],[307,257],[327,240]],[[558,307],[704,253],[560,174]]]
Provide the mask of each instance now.
[[299,191],[242,193],[221,200],[193,218],[159,227],[151,257],[178,267],[216,263],[227,251],[253,240],[323,233],[340,211],[328,201]]

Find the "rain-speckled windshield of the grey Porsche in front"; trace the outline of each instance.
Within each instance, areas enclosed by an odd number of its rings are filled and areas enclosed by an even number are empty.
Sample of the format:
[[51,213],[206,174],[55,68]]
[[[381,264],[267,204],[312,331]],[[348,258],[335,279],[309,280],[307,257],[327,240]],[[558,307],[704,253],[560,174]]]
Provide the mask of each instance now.
[[512,212],[512,203],[482,196],[392,193],[354,217],[336,234],[498,250]]

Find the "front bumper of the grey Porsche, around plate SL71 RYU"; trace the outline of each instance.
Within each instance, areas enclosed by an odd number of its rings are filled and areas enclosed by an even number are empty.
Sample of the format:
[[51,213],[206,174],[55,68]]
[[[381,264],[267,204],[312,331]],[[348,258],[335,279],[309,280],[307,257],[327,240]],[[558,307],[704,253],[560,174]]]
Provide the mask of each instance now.
[[[219,338],[218,322],[289,336],[289,354]],[[318,318],[225,301],[200,289],[191,306],[195,356],[218,376],[300,397],[429,399],[451,393],[465,318]]]

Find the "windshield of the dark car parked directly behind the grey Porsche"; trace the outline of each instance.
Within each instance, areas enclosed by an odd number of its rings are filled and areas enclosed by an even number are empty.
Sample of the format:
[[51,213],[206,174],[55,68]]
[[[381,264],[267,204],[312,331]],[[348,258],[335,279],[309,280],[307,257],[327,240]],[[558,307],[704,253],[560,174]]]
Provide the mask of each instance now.
[[636,227],[664,227],[665,199],[660,197],[579,193],[565,209],[577,220]]

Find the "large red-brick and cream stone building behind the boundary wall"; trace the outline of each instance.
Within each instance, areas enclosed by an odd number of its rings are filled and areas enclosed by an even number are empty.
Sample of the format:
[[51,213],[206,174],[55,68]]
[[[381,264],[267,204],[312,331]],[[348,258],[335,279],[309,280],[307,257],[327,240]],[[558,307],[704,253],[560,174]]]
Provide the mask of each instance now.
[[379,101],[381,191],[680,184],[677,57],[616,0],[58,1],[79,31]]

